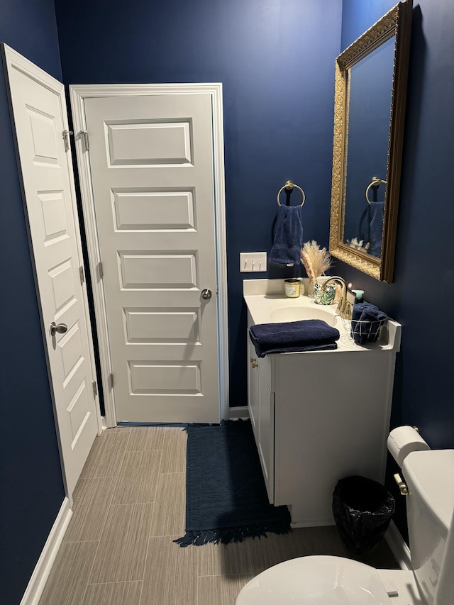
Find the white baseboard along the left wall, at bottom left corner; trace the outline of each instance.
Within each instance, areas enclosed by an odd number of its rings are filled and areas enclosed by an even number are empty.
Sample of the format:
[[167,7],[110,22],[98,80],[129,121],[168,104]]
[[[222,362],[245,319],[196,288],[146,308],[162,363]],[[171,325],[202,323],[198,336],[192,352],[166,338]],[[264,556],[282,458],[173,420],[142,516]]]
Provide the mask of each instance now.
[[21,605],[38,605],[71,516],[70,501],[65,498],[23,594]]

